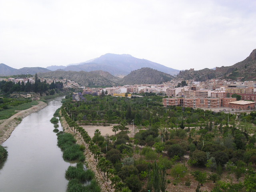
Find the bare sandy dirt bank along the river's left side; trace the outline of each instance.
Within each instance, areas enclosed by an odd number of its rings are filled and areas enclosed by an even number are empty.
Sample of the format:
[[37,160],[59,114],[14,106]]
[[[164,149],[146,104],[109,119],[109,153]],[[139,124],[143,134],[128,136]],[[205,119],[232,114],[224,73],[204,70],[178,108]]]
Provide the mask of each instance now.
[[0,120],[0,144],[5,142],[10,137],[12,131],[20,123],[20,120],[22,120],[31,113],[41,110],[46,106],[47,104],[45,102],[38,101],[37,105],[32,106],[31,108],[28,108],[26,110],[19,111],[8,119]]

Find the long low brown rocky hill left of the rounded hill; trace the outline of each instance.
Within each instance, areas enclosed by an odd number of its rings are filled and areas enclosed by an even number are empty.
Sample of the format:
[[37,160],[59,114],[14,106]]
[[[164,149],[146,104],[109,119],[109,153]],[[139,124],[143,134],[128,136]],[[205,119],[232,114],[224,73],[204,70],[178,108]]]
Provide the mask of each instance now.
[[118,78],[107,74],[108,72],[75,72],[75,71],[52,71],[47,73],[38,73],[38,76],[44,78],[64,78],[79,83],[82,86],[110,86],[116,85]]

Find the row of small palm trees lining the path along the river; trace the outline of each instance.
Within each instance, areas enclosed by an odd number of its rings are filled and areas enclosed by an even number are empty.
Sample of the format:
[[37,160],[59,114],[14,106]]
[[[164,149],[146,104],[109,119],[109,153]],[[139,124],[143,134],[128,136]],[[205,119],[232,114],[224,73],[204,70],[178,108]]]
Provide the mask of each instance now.
[[[115,192],[131,192],[131,190],[128,187],[126,187],[126,185],[121,181],[121,178],[115,175],[116,170],[113,168],[113,164],[103,156],[100,147],[92,141],[88,132],[84,130],[84,128],[79,126],[69,117],[63,105],[61,107],[61,112],[62,116],[64,116],[66,122],[68,123],[70,129],[82,136],[84,142],[88,146],[88,149],[94,155],[94,159],[96,160],[96,162],[98,162],[97,167],[104,173],[104,176],[107,177],[107,181],[109,179],[111,180],[110,185],[111,187],[115,188]],[[100,135],[101,133],[99,130],[96,130],[94,132],[94,136],[96,134]]]

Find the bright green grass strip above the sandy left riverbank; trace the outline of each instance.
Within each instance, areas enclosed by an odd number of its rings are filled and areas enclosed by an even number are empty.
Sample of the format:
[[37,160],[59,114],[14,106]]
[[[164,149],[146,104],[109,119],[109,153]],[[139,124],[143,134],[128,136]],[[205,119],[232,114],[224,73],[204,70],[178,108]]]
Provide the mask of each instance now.
[[16,110],[25,110],[37,104],[37,101],[32,101],[29,103],[20,104],[19,106],[8,106],[8,109],[0,111],[0,119],[8,119],[17,113]]

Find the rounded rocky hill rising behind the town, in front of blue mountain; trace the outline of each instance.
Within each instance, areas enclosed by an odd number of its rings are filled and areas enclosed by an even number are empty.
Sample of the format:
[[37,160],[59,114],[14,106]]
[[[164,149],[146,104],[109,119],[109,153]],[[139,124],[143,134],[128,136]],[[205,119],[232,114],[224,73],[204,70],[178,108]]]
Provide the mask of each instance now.
[[130,74],[119,81],[120,84],[161,84],[172,80],[173,76],[154,70],[152,68],[144,67],[132,71]]

